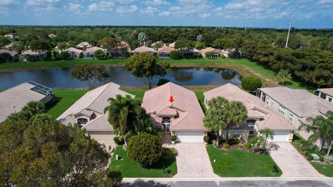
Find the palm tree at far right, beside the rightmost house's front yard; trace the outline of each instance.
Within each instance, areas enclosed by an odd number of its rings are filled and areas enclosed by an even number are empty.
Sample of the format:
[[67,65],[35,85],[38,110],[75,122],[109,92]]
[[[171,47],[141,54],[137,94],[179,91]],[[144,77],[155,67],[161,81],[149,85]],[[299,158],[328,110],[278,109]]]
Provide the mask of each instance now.
[[324,116],[316,116],[316,118],[307,118],[309,125],[302,123],[299,130],[305,130],[305,132],[312,132],[311,136],[307,139],[309,143],[314,143],[318,139],[321,141],[320,150],[325,145],[325,139],[327,139],[327,132],[329,131],[329,125]]

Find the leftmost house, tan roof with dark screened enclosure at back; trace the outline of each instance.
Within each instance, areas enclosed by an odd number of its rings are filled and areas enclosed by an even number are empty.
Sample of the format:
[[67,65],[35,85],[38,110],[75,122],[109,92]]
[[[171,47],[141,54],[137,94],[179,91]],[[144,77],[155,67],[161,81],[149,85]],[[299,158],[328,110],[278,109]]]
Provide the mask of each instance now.
[[52,89],[36,82],[24,82],[0,92],[0,123],[15,112],[20,112],[30,101],[43,105],[53,99]]

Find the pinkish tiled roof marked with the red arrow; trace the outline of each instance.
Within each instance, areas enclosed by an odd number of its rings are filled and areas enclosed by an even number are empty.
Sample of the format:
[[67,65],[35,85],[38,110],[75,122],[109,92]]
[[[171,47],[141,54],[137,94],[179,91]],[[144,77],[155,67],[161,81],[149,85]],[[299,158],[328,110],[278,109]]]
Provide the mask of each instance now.
[[[173,103],[169,101],[170,96],[173,96]],[[176,109],[182,111],[178,113],[178,118],[172,122],[171,130],[207,130],[203,127],[205,115],[196,94],[177,84],[168,82],[146,91],[141,106],[146,109],[148,114],[163,115],[167,113],[173,116]]]

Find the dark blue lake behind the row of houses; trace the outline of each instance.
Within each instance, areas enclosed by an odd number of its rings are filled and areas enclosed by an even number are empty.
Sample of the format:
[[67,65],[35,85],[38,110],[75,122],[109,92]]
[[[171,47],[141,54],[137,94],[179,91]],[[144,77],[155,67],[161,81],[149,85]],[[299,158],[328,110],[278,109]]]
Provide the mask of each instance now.
[[[123,66],[108,66],[106,69],[110,72],[111,77],[105,82],[115,82],[122,87],[146,85],[143,78],[135,78]],[[8,89],[31,80],[52,89],[87,87],[87,83],[71,79],[70,73],[71,69],[69,68],[0,73],[0,89]],[[173,67],[164,78],[180,85],[222,85],[228,82],[235,85],[241,84],[241,76],[232,69]],[[101,84],[105,82],[101,82]]]

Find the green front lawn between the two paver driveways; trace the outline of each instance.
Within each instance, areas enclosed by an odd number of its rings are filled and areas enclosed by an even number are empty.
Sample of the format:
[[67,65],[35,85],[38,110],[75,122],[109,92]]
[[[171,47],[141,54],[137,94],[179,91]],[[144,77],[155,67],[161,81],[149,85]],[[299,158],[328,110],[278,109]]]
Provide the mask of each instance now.
[[[207,145],[214,172],[221,177],[279,177],[282,171],[272,174],[277,166],[268,154],[255,154],[242,150],[221,150]],[[214,163],[214,159],[216,162]],[[278,166],[277,166],[278,167]]]

